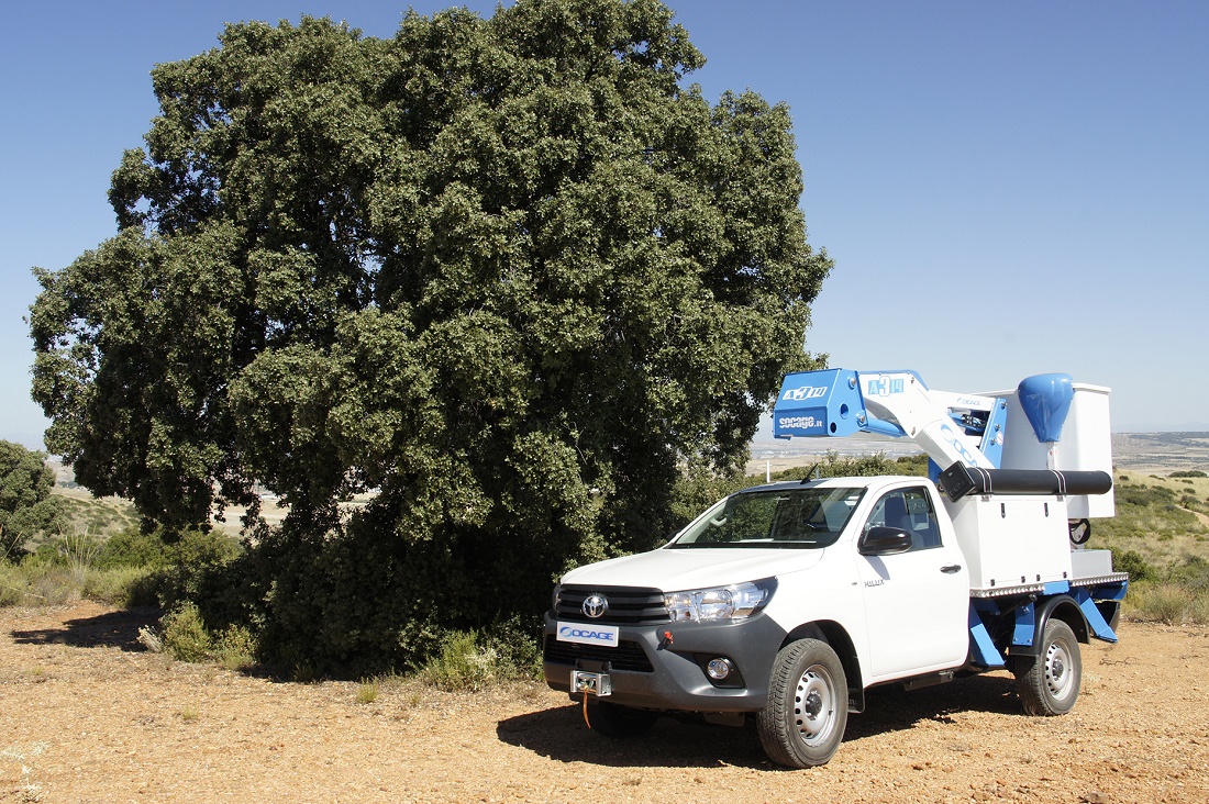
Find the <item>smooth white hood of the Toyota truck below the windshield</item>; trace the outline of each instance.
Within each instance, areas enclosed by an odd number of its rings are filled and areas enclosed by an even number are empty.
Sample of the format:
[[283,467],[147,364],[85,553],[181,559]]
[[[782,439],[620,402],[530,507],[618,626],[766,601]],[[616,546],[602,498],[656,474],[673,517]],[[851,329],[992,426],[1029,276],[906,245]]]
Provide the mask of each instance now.
[[660,591],[686,591],[759,580],[809,569],[822,550],[688,548],[609,559],[572,569],[565,584],[588,586],[646,586]]

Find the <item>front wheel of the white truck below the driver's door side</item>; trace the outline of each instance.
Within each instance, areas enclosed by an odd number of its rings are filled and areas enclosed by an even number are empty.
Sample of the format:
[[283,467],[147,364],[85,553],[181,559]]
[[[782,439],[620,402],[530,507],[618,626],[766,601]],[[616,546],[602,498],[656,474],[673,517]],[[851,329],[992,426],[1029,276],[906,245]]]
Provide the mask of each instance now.
[[773,663],[768,705],[756,729],[768,758],[786,768],[825,765],[848,727],[848,677],[831,646],[798,640]]

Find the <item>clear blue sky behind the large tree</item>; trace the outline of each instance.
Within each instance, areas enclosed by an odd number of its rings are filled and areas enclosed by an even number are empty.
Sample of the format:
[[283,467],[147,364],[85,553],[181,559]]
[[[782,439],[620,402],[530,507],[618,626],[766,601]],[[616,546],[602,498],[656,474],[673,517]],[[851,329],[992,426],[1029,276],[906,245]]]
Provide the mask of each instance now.
[[[413,1],[420,13],[451,2]],[[467,2],[490,16],[494,2]],[[809,238],[835,268],[811,351],[987,391],[1065,371],[1116,432],[1209,430],[1209,4],[672,1],[716,100],[789,105]],[[157,106],[150,69],[225,22],[331,0],[13,4],[0,48],[0,438],[39,446],[31,266],[115,233],[105,198]]]

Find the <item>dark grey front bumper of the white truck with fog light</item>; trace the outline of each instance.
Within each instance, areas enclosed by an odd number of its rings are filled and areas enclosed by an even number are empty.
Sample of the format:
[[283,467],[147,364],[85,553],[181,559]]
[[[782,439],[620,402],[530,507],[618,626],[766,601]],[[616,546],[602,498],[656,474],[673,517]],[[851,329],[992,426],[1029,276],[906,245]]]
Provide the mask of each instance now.
[[[621,625],[618,647],[560,642],[559,625],[584,620],[545,615],[543,669],[553,689],[572,693],[574,670],[608,673],[608,700],[623,706],[681,712],[754,712],[764,708],[773,661],[785,630],[756,614],[731,623]],[[671,634],[671,641],[666,637]],[[713,658],[735,667],[715,682],[705,672]]]

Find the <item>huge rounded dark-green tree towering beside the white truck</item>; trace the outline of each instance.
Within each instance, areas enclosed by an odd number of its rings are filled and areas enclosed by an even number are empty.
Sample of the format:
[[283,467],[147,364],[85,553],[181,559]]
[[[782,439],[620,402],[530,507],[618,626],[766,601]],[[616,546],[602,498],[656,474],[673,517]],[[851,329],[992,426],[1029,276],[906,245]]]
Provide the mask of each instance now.
[[653,545],[681,472],[741,465],[781,375],[817,363],[831,267],[788,109],[708,103],[683,82],[702,63],[655,0],[522,0],[389,40],[232,24],[157,65],[120,231],[35,270],[48,449],[168,532],[277,492],[261,605],[308,597],[314,629],[343,582],[403,590],[339,655]]

